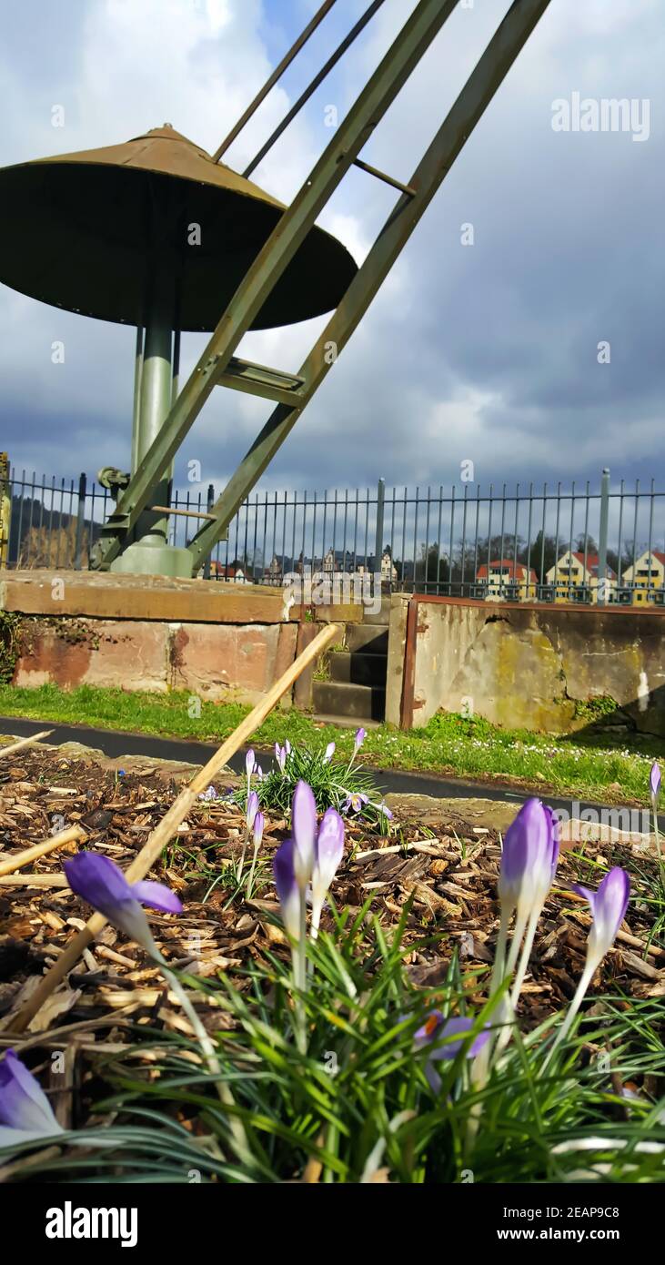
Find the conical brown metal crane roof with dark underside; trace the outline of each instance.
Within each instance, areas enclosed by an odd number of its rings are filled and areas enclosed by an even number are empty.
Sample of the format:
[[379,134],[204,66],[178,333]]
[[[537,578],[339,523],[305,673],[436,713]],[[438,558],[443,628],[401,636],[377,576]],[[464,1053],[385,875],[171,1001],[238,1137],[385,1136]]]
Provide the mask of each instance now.
[[[1,168],[0,281],[56,307],[143,325],[158,252],[177,278],[180,328],[212,330],[283,210],[166,124],[121,145]],[[190,225],[200,225],[200,245]],[[345,247],[312,228],[252,328],[330,311],[355,271]]]

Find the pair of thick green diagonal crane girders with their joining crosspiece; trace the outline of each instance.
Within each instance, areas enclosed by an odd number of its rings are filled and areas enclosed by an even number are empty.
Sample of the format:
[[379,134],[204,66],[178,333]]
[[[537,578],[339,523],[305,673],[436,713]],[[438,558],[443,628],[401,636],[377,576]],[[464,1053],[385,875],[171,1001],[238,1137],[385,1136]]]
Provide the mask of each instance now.
[[316,216],[456,5],[456,0],[420,0],[230,301],[159,435],[102,529],[97,565],[107,567],[120,552],[148,503],[156,476],[172,460],[217,383],[277,398],[281,402],[214,506],[215,521],[206,521],[188,545],[192,574],[197,574],[324,381],[332,363],[329,344],[335,345],[335,354],[341,352],[547,4],[549,0],[515,0],[411,181],[407,186],[397,182],[406,192],[300,372],[283,374],[235,359],[240,339]]

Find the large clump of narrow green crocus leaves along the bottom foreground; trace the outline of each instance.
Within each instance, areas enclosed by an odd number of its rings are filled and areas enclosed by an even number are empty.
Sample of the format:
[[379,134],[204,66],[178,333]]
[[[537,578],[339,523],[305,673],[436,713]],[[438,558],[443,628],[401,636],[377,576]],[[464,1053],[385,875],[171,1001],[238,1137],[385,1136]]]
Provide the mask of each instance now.
[[[223,1184],[662,1180],[665,1102],[641,1088],[662,1077],[659,1003],[633,999],[628,1009],[623,997],[597,997],[546,1075],[552,1020],[516,1034],[482,1089],[461,1050],[437,1064],[434,1090],[415,1032],[432,1007],[465,1013],[479,982],[453,958],[436,989],[416,989],[405,969],[413,950],[403,937],[407,917],[408,908],[387,939],[368,906],[346,910],[308,945],[312,984],[300,998],[306,1052],[295,1041],[293,984],[279,956],[252,963],[240,987],[223,975],[187,978],[224,1016],[215,1035],[219,1077],[196,1063],[193,1039],[137,1025],[126,1050],[92,1055],[95,1083],[107,1087],[95,1114],[115,1114],[86,1133],[104,1146],[71,1154],[59,1137],[59,1154],[32,1156],[14,1180],[186,1184],[192,1170]],[[477,1012],[474,1031],[488,1017],[487,1007]],[[142,1047],[150,1051],[149,1078],[137,1070]],[[589,1054],[594,1047],[611,1047],[609,1070]],[[220,1104],[219,1078],[233,1090],[233,1108]],[[637,1097],[616,1088],[627,1080],[640,1087]],[[233,1150],[233,1116],[249,1140],[244,1165]],[[14,1157],[34,1149],[15,1147]]]

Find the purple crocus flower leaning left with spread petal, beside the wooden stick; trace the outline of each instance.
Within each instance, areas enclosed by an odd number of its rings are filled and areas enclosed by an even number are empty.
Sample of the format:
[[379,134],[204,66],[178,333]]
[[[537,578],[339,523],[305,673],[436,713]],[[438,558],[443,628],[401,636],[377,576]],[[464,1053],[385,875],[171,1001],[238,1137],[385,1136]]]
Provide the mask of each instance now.
[[72,892],[150,954],[156,953],[156,945],[142,903],[164,913],[182,913],[181,901],[168,887],[145,879],[128,883],[123,870],[110,856],[78,853],[64,861],[64,873]]

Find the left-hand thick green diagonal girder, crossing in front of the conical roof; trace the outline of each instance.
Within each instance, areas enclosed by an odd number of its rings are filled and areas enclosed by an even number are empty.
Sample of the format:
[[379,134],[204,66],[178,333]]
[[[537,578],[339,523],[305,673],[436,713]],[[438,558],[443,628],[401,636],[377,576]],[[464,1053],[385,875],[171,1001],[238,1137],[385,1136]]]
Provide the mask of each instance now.
[[148,505],[159,473],[169,466],[265,299],[456,4],[458,0],[420,0],[393,40],[243,278],[159,434],[101,529],[96,567],[106,568],[118,557],[123,540]]

